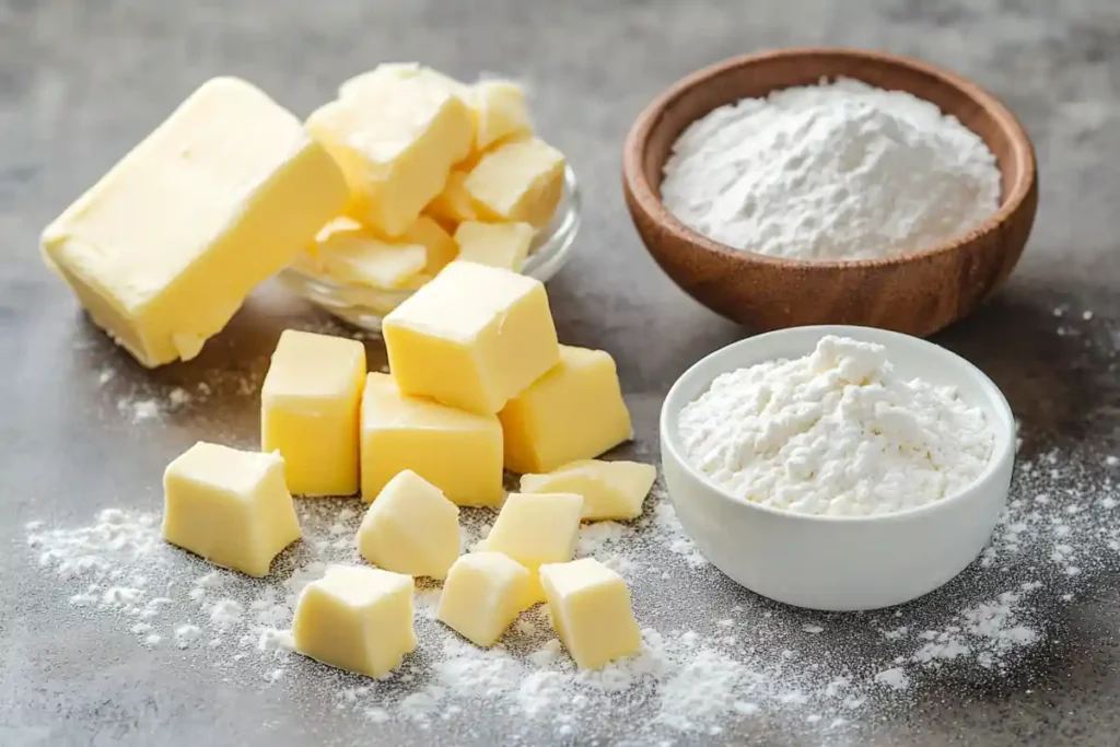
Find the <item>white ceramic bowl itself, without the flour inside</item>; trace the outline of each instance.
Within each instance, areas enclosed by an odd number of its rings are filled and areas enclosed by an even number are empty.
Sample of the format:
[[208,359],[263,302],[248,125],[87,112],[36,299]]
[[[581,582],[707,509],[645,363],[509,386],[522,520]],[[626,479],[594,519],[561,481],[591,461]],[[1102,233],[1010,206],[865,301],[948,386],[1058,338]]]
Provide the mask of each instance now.
[[[697,471],[676,421],[716,376],[774,358],[806,355],[824,335],[886,346],[896,371],[956,386],[983,410],[996,437],[991,463],[967,489],[883,516],[814,516],[741,501]],[[980,370],[916,337],[870,327],[783,329],[740,340],[703,358],[676,381],[661,410],[661,458],[684,531],[729,577],[771,599],[823,610],[878,609],[943,586],[983,550],[1007,502],[1015,419]]]

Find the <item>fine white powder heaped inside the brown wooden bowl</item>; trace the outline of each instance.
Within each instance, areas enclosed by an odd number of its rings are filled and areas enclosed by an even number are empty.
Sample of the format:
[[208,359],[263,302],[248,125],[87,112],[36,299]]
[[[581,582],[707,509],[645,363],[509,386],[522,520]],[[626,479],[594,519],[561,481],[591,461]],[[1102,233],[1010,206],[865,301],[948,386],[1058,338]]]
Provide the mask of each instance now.
[[736,249],[800,260],[920,251],[996,212],[983,141],[908,93],[839,80],[745,99],[691,124],[661,196]]

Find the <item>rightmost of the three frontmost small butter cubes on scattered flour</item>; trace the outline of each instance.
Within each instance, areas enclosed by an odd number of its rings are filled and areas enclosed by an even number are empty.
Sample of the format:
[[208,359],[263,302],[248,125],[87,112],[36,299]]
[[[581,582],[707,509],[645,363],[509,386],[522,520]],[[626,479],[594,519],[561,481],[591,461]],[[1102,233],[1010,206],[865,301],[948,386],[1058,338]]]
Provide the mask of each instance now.
[[623,577],[594,558],[541,567],[549,617],[580,669],[595,670],[642,650]]

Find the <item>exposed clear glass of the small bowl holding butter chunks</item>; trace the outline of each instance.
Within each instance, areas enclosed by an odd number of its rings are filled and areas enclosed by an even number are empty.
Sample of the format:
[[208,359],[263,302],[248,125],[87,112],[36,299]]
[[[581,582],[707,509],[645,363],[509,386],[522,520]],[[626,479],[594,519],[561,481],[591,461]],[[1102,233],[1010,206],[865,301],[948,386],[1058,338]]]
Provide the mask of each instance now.
[[[576,174],[564,169],[563,194],[552,221],[536,234],[522,274],[541,282],[550,280],[571,254],[580,224],[580,196]],[[411,288],[380,289],[342,283],[324,276],[310,274],[300,268],[286,268],[277,276],[290,291],[302,296],[339,319],[362,329],[381,332],[381,320],[404,299],[416,292]]]

